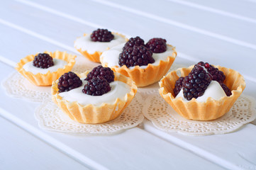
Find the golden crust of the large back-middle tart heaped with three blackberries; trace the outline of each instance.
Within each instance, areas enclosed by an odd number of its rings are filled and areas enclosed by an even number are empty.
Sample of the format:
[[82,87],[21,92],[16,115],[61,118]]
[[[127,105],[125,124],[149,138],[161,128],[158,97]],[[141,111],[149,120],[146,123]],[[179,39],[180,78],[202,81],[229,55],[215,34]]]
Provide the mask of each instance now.
[[[172,47],[172,45],[168,45],[169,47]],[[126,67],[126,65],[123,65],[122,67],[114,66],[111,67],[113,72],[118,72],[120,74],[125,75],[126,77],[130,77],[132,79],[136,86],[148,86],[150,84],[153,84],[157,81],[159,81],[169,70],[169,68],[172,66],[172,63],[175,60],[175,57],[177,56],[177,51],[175,50],[175,47],[172,47],[172,55],[167,57],[167,60],[160,60],[160,63],[158,65],[152,65],[148,64],[148,67],[145,69],[135,66],[133,69],[129,69]],[[108,63],[103,63],[101,61],[101,64],[103,67],[108,67]]]

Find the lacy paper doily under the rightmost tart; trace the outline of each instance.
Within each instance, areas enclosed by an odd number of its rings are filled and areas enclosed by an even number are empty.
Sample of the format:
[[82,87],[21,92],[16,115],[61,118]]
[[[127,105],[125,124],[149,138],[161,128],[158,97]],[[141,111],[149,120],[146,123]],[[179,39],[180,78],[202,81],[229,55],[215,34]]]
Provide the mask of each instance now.
[[230,111],[216,120],[187,120],[175,112],[160,94],[146,99],[143,114],[160,130],[192,136],[233,132],[256,118],[255,99],[245,95],[241,95]]

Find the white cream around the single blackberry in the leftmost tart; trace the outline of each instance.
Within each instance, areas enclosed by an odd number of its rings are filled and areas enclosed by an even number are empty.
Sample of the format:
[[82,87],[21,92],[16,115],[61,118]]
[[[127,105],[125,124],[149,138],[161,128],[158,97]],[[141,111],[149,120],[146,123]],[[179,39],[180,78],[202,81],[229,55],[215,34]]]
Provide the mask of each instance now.
[[25,69],[26,72],[32,72],[33,74],[46,74],[48,71],[50,72],[57,72],[57,69],[64,68],[65,65],[67,65],[67,62],[65,60],[55,59],[52,58],[54,65],[52,67],[49,67],[47,69],[42,69],[33,66],[33,61],[27,62],[23,65],[23,69]]

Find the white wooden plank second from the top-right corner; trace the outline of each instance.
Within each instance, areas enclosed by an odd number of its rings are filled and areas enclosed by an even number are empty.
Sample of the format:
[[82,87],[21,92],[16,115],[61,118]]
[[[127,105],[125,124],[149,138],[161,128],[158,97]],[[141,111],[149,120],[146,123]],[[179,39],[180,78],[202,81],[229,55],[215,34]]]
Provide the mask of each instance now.
[[[198,10],[197,8],[191,8],[190,6],[173,3],[173,1],[151,0],[148,1],[148,3],[145,3],[145,1],[142,0],[94,1],[107,6],[121,8],[124,11],[136,13],[139,16],[162,21],[182,29],[191,30],[196,33],[255,49],[256,40],[252,40],[252,37],[256,37],[253,31],[256,27],[256,20],[251,23],[244,20],[238,20],[237,18],[216,15],[216,13],[210,13],[208,11]],[[157,11],[155,8],[161,10]]]

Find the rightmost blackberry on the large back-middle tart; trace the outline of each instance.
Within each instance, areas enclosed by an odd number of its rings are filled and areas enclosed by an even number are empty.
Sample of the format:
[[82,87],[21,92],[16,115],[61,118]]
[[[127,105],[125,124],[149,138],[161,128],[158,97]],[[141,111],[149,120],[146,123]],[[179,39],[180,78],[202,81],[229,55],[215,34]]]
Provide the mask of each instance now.
[[147,42],[146,47],[154,53],[165,52],[167,49],[166,40],[162,38],[152,38]]

